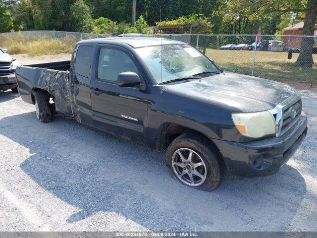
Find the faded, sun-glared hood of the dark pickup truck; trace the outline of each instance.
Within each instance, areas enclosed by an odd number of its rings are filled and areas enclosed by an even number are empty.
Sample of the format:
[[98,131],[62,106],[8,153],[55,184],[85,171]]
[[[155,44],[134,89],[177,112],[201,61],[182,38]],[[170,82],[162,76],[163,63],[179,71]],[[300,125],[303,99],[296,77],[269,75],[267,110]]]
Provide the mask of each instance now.
[[187,97],[225,105],[245,113],[273,109],[297,93],[294,88],[283,83],[226,71],[167,87]]

